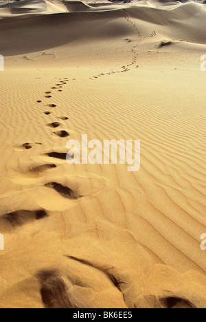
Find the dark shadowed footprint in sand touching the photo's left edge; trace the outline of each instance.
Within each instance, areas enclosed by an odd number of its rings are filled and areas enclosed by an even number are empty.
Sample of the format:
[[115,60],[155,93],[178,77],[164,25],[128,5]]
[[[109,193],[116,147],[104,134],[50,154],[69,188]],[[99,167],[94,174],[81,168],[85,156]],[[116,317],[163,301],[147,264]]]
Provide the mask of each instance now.
[[0,216],[1,230],[11,230],[18,226],[23,226],[27,222],[34,222],[35,220],[43,219],[48,217],[46,211],[27,211],[19,210],[14,211],[13,213],[6,213],[5,215]]

